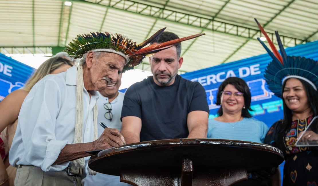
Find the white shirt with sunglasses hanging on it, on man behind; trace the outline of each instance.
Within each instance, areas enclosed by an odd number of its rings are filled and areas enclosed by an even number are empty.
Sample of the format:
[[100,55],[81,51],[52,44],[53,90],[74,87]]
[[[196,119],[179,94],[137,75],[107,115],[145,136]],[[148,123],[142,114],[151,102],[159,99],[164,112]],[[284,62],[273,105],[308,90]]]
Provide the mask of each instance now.
[[[122,108],[122,103],[124,101],[124,96],[125,93],[119,92],[118,96],[110,102],[112,105],[112,114],[113,118],[112,121],[108,120],[105,118],[105,113],[108,112],[104,108],[105,103],[108,102],[108,97],[104,97],[101,94],[99,95],[99,99],[97,100],[97,105],[98,105],[98,116],[97,116],[97,122],[104,122],[109,128],[114,128],[121,130],[121,108]],[[98,136],[101,135],[101,133],[104,131],[104,128],[102,126],[98,126]],[[87,167],[87,165],[86,165]],[[91,186],[91,185],[112,185],[112,186],[123,186],[123,185],[130,185],[128,183],[123,183],[120,182],[120,177],[119,176],[112,176],[112,175],[107,175],[107,174],[102,174],[102,173],[97,173],[95,176],[89,175],[87,173],[87,168],[86,170],[86,177],[82,180],[82,184],[84,186]]]

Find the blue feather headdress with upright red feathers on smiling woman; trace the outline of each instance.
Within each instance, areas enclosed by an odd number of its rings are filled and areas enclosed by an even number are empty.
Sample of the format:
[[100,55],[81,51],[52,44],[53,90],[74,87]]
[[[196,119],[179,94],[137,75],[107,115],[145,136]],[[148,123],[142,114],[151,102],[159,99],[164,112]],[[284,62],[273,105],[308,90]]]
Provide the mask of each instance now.
[[315,90],[317,90],[318,61],[300,56],[287,56],[283,44],[280,40],[278,31],[275,31],[277,43],[280,48],[280,55],[263,27],[256,19],[255,21],[273,50],[272,53],[271,50],[269,50],[269,48],[265,45],[265,43],[257,38],[263,45],[267,53],[273,59],[273,61],[267,65],[264,77],[268,88],[275,94],[275,96],[281,97],[282,84],[289,78],[302,79],[308,82]]

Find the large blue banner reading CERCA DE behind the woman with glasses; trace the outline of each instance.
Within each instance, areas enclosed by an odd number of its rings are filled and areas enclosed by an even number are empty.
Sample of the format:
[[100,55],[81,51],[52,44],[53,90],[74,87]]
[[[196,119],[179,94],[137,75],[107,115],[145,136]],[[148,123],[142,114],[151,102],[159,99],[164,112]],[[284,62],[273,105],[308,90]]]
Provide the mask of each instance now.
[[[261,46],[260,46],[261,47]],[[289,56],[304,56],[318,60],[318,41],[300,44],[286,49]],[[211,57],[213,59],[213,56]],[[268,54],[254,56],[232,63],[197,70],[182,74],[186,79],[199,82],[206,91],[210,108],[210,118],[217,116],[220,106],[216,105],[218,87],[227,77],[240,77],[245,80],[251,90],[251,114],[270,127],[274,122],[283,118],[283,103],[281,98],[267,88],[264,71],[272,59]]]

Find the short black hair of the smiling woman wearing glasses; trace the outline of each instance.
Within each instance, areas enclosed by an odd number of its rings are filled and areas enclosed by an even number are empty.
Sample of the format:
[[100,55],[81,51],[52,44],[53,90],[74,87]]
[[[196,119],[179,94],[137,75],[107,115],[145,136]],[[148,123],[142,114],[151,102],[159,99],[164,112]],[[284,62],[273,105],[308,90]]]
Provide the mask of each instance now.
[[[228,84],[233,85],[237,90],[239,90],[240,92],[243,93],[245,109],[242,110],[242,116],[243,117],[252,117],[252,115],[248,111],[248,110],[253,111],[251,109],[251,92],[250,92],[250,89],[248,88],[247,84],[245,83],[245,81],[239,77],[228,77],[225,79],[225,81],[223,83],[221,83],[221,85],[218,88],[216,104],[221,105],[222,91],[224,90],[224,88]],[[223,115],[222,106],[218,110],[218,115],[219,116]]]

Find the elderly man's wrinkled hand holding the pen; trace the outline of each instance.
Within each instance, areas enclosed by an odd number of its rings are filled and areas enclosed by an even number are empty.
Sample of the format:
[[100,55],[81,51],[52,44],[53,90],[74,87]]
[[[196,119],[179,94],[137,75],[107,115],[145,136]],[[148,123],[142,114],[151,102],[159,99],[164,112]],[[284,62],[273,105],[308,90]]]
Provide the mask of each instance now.
[[124,136],[121,135],[119,130],[106,128],[100,137],[93,142],[94,150],[109,149],[126,144]]

